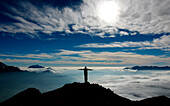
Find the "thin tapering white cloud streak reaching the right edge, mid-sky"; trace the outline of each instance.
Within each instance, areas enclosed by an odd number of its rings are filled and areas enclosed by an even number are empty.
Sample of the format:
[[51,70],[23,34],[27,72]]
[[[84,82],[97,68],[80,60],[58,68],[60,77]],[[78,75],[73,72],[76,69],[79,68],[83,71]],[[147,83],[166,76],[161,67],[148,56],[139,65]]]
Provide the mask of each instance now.
[[126,48],[126,47],[137,47],[138,49],[161,49],[169,50],[170,49],[170,36],[164,35],[160,38],[154,39],[153,41],[144,41],[144,42],[113,42],[113,43],[90,43],[83,44],[76,47],[82,48]]

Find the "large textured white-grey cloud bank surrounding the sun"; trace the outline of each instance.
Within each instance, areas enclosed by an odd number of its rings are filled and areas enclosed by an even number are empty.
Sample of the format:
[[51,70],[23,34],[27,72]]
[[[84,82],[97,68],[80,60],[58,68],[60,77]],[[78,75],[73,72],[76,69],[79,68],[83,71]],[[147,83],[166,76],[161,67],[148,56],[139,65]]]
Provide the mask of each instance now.
[[[98,16],[99,5],[107,1],[113,1],[119,7],[118,18],[113,23],[104,22]],[[84,0],[79,10],[65,7],[62,11],[47,5],[39,9],[29,2],[19,2],[19,5],[20,8],[6,5],[17,15],[4,14],[19,22],[1,24],[0,31],[34,34],[32,37],[38,36],[38,31],[94,35],[100,31],[96,36],[103,37],[105,33],[118,33],[116,28],[140,33],[169,32],[170,28],[170,0]],[[74,31],[70,30],[69,24],[73,24]]]

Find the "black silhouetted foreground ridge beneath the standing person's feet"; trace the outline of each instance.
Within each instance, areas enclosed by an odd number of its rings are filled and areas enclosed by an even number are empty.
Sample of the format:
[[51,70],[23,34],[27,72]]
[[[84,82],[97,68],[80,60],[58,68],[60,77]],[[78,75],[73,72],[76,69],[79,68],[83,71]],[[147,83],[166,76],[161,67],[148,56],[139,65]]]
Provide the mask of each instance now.
[[170,98],[153,97],[131,101],[98,84],[72,83],[46,93],[36,88],[26,89],[0,106],[170,106]]

